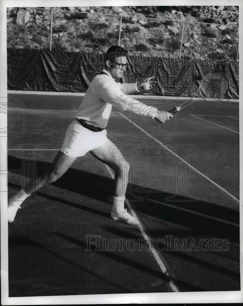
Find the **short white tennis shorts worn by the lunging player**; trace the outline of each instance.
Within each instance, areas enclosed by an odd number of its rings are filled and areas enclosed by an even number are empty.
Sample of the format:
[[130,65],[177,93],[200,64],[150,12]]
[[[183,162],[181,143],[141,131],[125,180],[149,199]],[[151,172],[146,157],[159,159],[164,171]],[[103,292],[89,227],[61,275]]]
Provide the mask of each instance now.
[[72,157],[84,156],[90,150],[104,144],[108,140],[106,134],[105,129],[101,132],[93,132],[74,119],[66,131],[60,151]]

